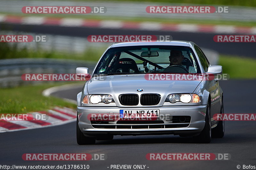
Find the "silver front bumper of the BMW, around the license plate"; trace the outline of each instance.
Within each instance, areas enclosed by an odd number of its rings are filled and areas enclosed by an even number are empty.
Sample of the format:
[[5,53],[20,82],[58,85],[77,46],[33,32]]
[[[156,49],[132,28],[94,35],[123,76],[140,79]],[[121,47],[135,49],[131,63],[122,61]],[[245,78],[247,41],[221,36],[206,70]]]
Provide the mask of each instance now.
[[[161,135],[161,134],[174,134],[180,136],[195,136],[198,135],[205,125],[205,113],[207,105],[190,105],[190,106],[162,106],[162,107],[77,107],[78,125],[80,130],[88,137],[96,137],[99,135]],[[120,110],[146,110],[146,109],[159,109],[160,118],[164,121],[161,128],[151,128],[152,124],[133,124],[144,125],[145,128],[132,129],[119,128],[119,124],[116,121],[110,122],[111,128],[105,126],[104,128],[94,128],[93,123],[90,121],[89,115],[91,114],[105,114],[105,115],[119,115]],[[162,116],[162,117],[161,117]],[[168,116],[190,116],[191,120],[187,123],[187,127],[172,127],[179,123],[172,123],[172,121],[166,121]],[[182,124],[182,123],[180,123]],[[184,123],[183,123],[184,124]],[[101,125],[101,123],[99,123]],[[129,126],[129,124],[126,124]],[[146,125],[146,126],[145,126]],[[157,124],[159,126],[159,124]],[[178,125],[179,126],[179,125]]]

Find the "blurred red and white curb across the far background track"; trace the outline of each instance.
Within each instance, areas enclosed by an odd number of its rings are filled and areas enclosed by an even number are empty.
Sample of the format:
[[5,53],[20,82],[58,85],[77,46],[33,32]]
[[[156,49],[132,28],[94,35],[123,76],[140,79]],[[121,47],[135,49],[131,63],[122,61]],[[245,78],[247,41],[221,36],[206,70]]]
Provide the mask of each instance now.
[[47,25],[65,27],[91,27],[110,29],[136,29],[192,33],[245,33],[256,34],[256,27],[229,25],[168,24],[160,22],[130,22],[81,18],[20,17],[0,15],[0,22],[20,25]]

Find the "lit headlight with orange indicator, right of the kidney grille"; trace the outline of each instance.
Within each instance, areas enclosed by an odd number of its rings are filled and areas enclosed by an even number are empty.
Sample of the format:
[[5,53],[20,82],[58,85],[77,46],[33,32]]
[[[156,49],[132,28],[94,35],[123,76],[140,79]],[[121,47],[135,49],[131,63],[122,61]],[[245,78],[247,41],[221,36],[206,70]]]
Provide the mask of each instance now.
[[199,103],[200,97],[193,93],[180,93],[180,94],[169,94],[165,102],[176,103],[181,101],[182,103]]

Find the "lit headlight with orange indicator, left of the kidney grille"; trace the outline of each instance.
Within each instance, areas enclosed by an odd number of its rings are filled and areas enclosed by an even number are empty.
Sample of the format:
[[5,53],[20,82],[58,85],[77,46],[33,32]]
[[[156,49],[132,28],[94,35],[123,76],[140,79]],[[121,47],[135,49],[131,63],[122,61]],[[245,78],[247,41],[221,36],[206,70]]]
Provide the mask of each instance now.
[[108,94],[89,94],[84,96],[82,104],[98,104],[100,102],[108,104],[115,101],[113,97]]

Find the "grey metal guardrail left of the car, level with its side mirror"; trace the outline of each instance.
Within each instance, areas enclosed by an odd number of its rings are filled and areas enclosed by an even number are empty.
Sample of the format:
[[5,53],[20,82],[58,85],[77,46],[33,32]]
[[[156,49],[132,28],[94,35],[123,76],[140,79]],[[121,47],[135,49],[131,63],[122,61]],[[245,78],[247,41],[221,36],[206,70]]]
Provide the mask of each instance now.
[[90,71],[95,62],[57,60],[57,59],[3,59],[0,60],[0,87],[14,87],[40,84],[44,81],[23,81],[22,74],[60,74],[76,73],[76,67],[88,67]]

